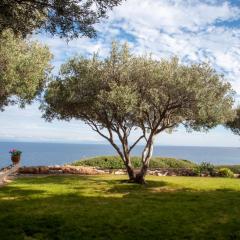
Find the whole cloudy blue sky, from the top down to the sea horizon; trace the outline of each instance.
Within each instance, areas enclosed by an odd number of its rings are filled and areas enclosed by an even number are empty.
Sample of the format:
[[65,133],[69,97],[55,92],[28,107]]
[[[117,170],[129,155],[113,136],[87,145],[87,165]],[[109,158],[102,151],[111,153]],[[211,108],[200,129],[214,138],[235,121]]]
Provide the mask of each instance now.
[[[67,43],[46,34],[33,37],[53,53],[53,73],[76,55],[98,52],[106,56],[111,42],[117,40],[128,42],[137,55],[152,53],[156,59],[177,55],[186,64],[208,61],[232,84],[239,104],[240,0],[127,0],[108,16],[95,26],[95,39],[79,38]],[[10,106],[0,114],[2,141],[104,143],[81,121],[46,123],[38,103],[25,109]],[[208,133],[187,133],[180,127],[172,134],[160,134],[156,144],[239,147],[240,136],[223,127]]]

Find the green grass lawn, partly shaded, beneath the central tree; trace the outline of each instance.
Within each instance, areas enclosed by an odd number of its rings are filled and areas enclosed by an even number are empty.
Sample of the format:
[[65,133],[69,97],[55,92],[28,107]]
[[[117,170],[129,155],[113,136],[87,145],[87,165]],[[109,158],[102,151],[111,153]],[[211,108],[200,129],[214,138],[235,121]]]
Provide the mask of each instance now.
[[240,179],[18,178],[0,188],[0,239],[240,239]]

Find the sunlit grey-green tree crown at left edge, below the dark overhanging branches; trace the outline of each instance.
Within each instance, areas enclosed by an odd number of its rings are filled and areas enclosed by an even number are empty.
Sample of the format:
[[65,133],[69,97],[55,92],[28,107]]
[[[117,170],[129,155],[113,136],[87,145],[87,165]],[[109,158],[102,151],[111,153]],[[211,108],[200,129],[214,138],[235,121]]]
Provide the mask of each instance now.
[[31,103],[45,85],[51,58],[48,48],[37,42],[15,37],[10,30],[0,34],[0,110]]

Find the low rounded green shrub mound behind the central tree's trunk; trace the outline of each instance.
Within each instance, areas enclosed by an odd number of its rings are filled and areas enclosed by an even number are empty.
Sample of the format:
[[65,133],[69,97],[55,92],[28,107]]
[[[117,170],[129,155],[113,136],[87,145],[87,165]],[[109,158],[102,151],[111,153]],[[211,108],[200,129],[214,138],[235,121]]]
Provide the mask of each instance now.
[[[141,158],[132,157],[132,165],[135,168],[141,167]],[[122,159],[118,156],[100,156],[93,157],[90,159],[83,159],[76,162],[73,162],[74,166],[92,166],[106,169],[121,169],[125,168]],[[150,168],[192,168],[196,164],[188,160],[180,160],[175,158],[167,157],[153,157],[150,162]]]

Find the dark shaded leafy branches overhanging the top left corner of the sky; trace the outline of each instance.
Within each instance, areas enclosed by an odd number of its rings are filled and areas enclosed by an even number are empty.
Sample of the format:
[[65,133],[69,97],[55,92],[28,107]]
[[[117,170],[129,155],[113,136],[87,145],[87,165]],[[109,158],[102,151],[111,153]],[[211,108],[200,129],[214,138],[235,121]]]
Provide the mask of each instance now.
[[64,38],[94,37],[94,24],[122,0],[1,0],[0,32],[23,37],[43,29]]

